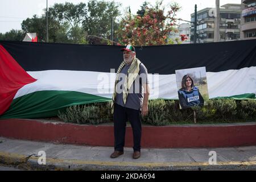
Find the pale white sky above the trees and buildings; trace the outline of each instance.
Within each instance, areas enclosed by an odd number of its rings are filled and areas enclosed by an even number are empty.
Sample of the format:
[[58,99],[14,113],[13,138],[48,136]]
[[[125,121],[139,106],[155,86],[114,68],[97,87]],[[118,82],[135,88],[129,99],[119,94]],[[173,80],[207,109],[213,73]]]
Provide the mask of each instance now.
[[[12,29],[21,30],[22,20],[26,18],[32,18],[33,15],[42,15],[43,9],[46,9],[47,0],[0,0],[0,32],[5,33]],[[105,0],[106,1],[106,0]],[[125,12],[126,7],[130,6],[131,13],[135,14],[145,0],[113,0],[115,2],[122,3],[119,10],[121,13]],[[197,11],[206,7],[214,7],[216,0],[164,0],[164,5],[168,5],[171,2],[177,2],[181,6],[181,10],[177,13],[176,18],[184,20],[190,20],[190,15],[195,10],[197,5]],[[48,0],[48,7],[53,6],[55,3],[72,2],[77,4],[80,2],[87,3],[88,0]],[[147,0],[151,5],[155,4],[155,1]],[[220,0],[220,6],[226,3],[241,3],[241,0]],[[179,22],[185,23],[185,22]]]

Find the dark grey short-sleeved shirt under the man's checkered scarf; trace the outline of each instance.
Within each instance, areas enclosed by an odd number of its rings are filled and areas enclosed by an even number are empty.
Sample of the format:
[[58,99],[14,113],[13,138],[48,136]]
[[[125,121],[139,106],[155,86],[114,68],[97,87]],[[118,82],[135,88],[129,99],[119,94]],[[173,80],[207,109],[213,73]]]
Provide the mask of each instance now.
[[125,82],[125,76],[128,73],[130,65],[125,65],[118,77],[117,81],[117,95],[115,97],[115,103],[123,107],[130,109],[141,110],[143,104],[143,84],[148,84],[147,68],[144,64],[139,65],[139,75],[135,78],[133,85],[129,90],[126,104],[123,103],[123,83]]

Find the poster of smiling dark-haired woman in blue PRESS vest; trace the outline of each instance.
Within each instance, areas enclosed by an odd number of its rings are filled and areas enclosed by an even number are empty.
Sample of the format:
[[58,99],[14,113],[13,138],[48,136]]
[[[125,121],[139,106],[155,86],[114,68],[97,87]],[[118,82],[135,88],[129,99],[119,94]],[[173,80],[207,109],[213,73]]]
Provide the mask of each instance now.
[[180,109],[204,106],[209,101],[205,67],[175,71]]

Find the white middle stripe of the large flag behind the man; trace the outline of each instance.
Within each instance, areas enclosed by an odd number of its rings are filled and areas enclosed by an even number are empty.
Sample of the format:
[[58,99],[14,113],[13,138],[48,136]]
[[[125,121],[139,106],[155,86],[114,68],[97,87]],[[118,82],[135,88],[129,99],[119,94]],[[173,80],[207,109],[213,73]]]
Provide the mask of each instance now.
[[[43,90],[64,90],[112,98],[115,73],[48,70],[28,72],[38,79],[19,89],[14,98]],[[148,74],[150,99],[177,99],[176,77]],[[256,67],[222,72],[207,72],[209,98],[256,94]]]

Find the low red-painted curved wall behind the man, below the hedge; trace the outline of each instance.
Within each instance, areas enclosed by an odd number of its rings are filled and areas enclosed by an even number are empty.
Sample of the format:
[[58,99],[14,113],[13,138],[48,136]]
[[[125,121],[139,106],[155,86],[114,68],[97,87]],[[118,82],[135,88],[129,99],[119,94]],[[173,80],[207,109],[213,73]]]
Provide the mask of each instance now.
[[[76,125],[42,122],[32,119],[1,119],[0,136],[43,142],[113,146],[111,125]],[[233,147],[256,145],[256,123],[232,125],[143,126],[142,147]],[[133,147],[130,126],[126,130],[126,147]]]

